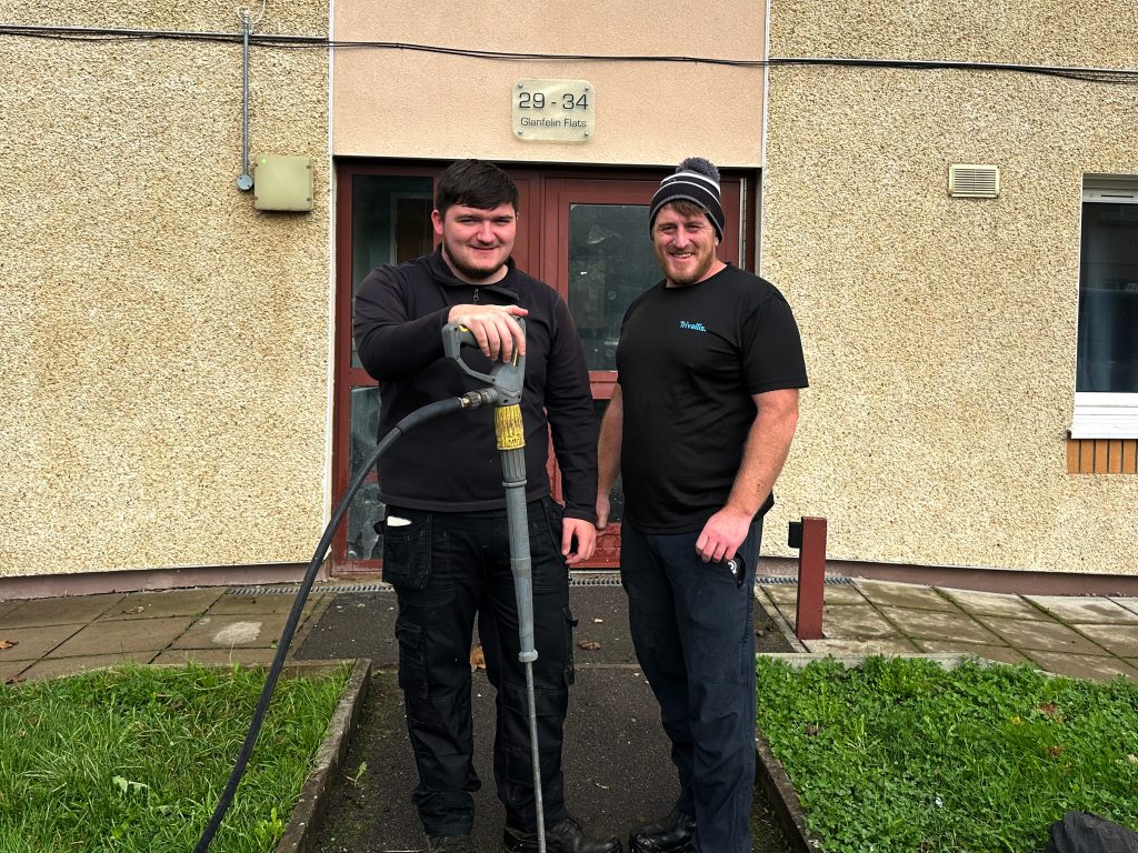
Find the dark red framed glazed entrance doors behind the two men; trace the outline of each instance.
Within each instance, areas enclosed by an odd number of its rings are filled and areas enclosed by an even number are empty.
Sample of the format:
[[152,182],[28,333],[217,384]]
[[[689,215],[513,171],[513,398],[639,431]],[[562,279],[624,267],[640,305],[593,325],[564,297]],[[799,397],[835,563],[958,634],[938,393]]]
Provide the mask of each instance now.
[[[337,166],[337,320],[333,404],[332,498],[338,504],[376,447],[380,395],[360,364],[352,340],[352,300],[361,282],[381,264],[398,264],[431,251],[435,183],[446,164]],[[616,346],[625,308],[660,278],[652,252],[648,209],[663,169],[592,172],[509,168],[520,194],[518,266],[555,288],[577,323],[589,367],[597,417],[616,384]],[[750,267],[741,251],[740,223],[747,176],[723,179],[725,240],[719,256]],[[749,252],[745,252],[749,255]],[[551,453],[552,458],[552,453]],[[551,469],[560,497],[560,472]],[[332,573],[380,571],[382,517],[374,471],[353,500],[332,543]],[[613,490],[619,522],[620,485]],[[618,565],[619,523],[601,537],[589,566]]]

